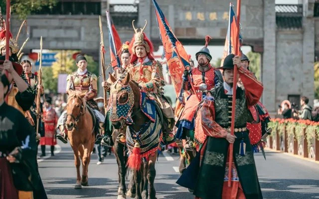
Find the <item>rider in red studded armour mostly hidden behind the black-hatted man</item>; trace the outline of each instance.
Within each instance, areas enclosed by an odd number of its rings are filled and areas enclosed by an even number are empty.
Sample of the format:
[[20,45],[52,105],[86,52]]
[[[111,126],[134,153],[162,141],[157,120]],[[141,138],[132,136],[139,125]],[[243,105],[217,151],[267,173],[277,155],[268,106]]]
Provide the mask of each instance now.
[[[241,63],[245,69],[249,70],[250,61],[244,53],[242,53],[241,55]],[[255,79],[257,78],[255,77]],[[241,80],[239,80],[238,85],[243,90],[245,90],[245,86]],[[259,152],[259,150],[261,150],[265,157],[263,139],[265,139],[267,135],[270,135],[272,132],[272,128],[268,128],[270,115],[265,106],[260,101],[258,101],[258,103],[256,103],[255,105],[250,106],[249,111],[254,119],[253,122],[247,122],[250,144],[252,145],[254,152]]]

